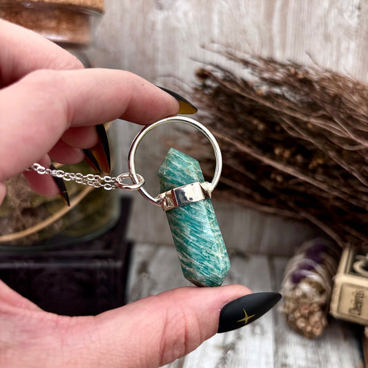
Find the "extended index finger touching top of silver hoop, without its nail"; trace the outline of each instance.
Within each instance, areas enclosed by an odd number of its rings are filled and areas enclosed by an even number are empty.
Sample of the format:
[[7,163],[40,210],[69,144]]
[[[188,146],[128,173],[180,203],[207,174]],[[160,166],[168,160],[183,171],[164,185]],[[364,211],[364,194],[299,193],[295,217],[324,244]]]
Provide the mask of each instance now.
[[70,126],[177,114],[174,97],[130,72],[38,70],[0,90],[0,181],[37,162]]

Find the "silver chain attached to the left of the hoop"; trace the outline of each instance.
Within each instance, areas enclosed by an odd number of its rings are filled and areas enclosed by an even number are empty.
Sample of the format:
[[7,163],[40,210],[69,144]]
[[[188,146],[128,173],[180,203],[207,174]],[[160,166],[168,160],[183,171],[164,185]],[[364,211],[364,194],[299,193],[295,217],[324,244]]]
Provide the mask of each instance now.
[[[60,177],[66,182],[76,182],[78,184],[84,184],[88,186],[93,186],[94,188],[104,188],[106,191],[111,191],[112,189],[125,189],[126,191],[137,191],[144,184],[144,177],[137,174],[139,182],[135,183],[133,181],[133,176],[130,173],[123,173],[117,177],[104,176],[94,174],[83,175],[82,173],[66,173],[63,170],[46,168],[40,164],[32,164],[28,171],[35,171],[41,175],[52,175],[53,177]],[[124,179],[130,179],[133,184],[125,184]]]

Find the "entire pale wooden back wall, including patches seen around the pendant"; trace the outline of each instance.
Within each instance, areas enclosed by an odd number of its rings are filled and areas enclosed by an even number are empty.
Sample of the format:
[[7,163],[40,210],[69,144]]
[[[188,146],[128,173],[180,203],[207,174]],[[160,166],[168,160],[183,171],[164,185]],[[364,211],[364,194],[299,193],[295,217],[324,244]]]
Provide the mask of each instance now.
[[[197,68],[214,63],[240,70],[207,50],[213,45],[326,68],[367,83],[367,17],[366,1],[106,0],[106,13],[97,28],[96,41],[118,68],[193,100],[191,89],[198,84]],[[119,127],[123,171],[128,146],[138,130],[129,124]],[[155,142],[139,151],[137,170],[141,169],[145,177],[148,175],[147,186],[153,188],[153,193],[161,147]],[[303,240],[319,233],[305,222],[218,202],[216,191],[213,197],[230,248],[291,255]],[[129,235],[142,242],[171,244],[165,216],[137,193]]]

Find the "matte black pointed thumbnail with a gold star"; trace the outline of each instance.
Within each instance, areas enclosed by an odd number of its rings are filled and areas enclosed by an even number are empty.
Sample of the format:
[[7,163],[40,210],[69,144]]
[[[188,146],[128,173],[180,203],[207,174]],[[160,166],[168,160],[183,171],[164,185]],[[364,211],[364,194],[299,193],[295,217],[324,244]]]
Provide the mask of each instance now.
[[220,312],[219,332],[233,331],[257,320],[281,299],[279,293],[253,293],[226,304]]

